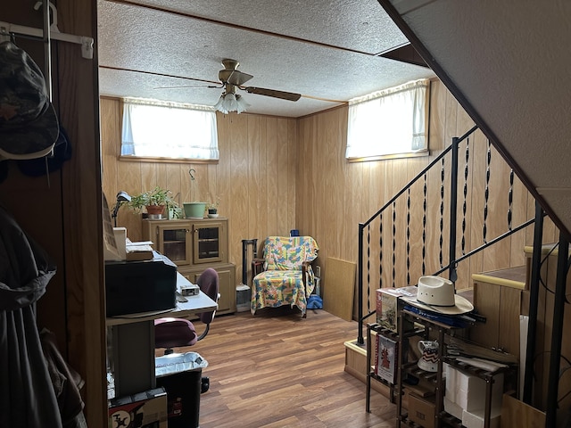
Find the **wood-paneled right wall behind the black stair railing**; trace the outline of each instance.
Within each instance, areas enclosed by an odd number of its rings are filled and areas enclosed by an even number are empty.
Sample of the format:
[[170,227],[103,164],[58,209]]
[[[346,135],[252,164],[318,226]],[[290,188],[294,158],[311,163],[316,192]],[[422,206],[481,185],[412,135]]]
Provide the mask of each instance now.
[[[429,145],[430,156],[400,160],[372,161],[348,163],[344,158],[346,145],[346,108],[338,108],[321,114],[299,119],[300,164],[297,185],[296,218],[302,233],[313,235],[320,246],[318,263],[321,265],[323,287],[327,287],[327,257],[358,261],[359,223],[366,222],[379,208],[393,198],[403,185],[426,167],[444,148],[451,144],[454,136],[463,136],[474,122],[463,111],[459,103],[440,81],[431,85]],[[460,149],[459,177],[463,180],[465,160],[464,147]],[[487,144],[483,134],[476,132],[470,140],[468,160],[468,199],[467,226],[465,233],[467,251],[483,243],[482,230],[484,218],[484,186]],[[507,212],[509,208],[509,167],[501,156],[491,149],[490,182],[491,195],[488,202],[487,238],[491,239],[507,231]],[[449,160],[447,161],[449,162]],[[444,196],[444,261],[448,259],[448,210],[450,188],[450,165],[445,166]],[[426,245],[435,249],[439,240],[439,210],[441,169],[436,168],[427,175],[427,226]],[[422,275],[420,256],[422,229],[422,183],[411,189],[410,218],[410,282],[416,284]],[[461,236],[461,206],[463,181],[459,185],[459,224],[458,234]],[[524,185],[514,179],[513,185],[513,226],[517,226],[527,218],[534,217],[534,201]],[[385,215],[384,229],[384,270],[383,286],[392,286],[393,268],[396,272],[396,286],[407,284],[406,281],[406,198],[397,201],[396,219],[396,251],[397,259],[392,263],[391,216]],[[432,214],[432,216],[431,216]],[[378,265],[379,225],[371,228],[371,264]],[[387,234],[389,239],[387,240]],[[544,242],[556,239],[554,226],[546,221]],[[520,266],[525,263],[524,246],[531,244],[533,228],[512,235],[509,239],[494,245],[493,248],[481,251],[469,261],[459,266],[459,288],[471,286],[471,274],[499,268]],[[377,244],[377,246],[376,246]],[[459,246],[459,245],[458,245]],[[461,255],[458,248],[457,257]],[[388,263],[388,264],[387,264]],[[445,264],[445,263],[444,263]],[[426,273],[440,268],[438,254],[430,251],[426,255]],[[447,276],[447,273],[443,274]],[[378,267],[371,268],[371,284],[381,284]],[[376,287],[378,288],[378,287]],[[357,295],[357,294],[355,294]],[[374,296],[370,296],[369,309],[374,309]],[[367,308],[365,308],[367,313]]]

